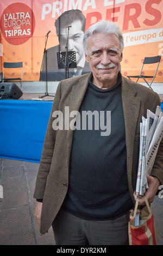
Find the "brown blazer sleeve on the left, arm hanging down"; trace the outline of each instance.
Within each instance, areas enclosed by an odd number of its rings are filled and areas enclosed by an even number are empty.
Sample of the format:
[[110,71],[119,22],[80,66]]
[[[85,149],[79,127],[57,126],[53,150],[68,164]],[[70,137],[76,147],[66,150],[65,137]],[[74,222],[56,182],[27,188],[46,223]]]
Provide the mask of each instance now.
[[36,178],[36,186],[34,191],[34,198],[43,199],[43,195],[46,188],[47,176],[51,168],[51,162],[53,157],[56,130],[52,128],[52,122],[54,118],[52,114],[55,110],[58,110],[59,102],[61,97],[61,82],[57,87],[57,92],[55,93],[54,102],[52,105],[51,115],[49,117],[48,126],[45,135],[45,141],[43,144],[42,156],[40,160],[39,171]]

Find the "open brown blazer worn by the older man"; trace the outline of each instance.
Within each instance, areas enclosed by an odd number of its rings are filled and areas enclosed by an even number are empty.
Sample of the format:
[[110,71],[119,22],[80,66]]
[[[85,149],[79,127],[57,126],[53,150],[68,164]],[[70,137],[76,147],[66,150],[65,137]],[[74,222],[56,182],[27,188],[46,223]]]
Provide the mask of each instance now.
[[[49,117],[45,142],[36,179],[34,198],[43,199],[40,233],[45,234],[57,215],[68,188],[68,172],[73,140],[73,130],[54,130],[53,111],[64,113],[65,106],[79,111],[89,84],[90,74],[60,81]],[[130,196],[136,186],[137,162],[139,159],[140,122],[147,109],[155,112],[160,105],[158,94],[145,86],[122,77],[122,103],[126,127],[127,175]],[[118,145],[117,145],[118,146]],[[152,175],[163,184],[163,143],[153,166]]]

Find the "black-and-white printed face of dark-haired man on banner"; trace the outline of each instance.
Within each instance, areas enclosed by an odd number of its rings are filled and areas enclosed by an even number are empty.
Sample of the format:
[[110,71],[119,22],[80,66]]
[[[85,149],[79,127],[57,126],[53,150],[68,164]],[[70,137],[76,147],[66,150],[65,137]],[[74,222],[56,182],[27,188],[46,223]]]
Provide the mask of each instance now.
[[[68,37],[68,51],[76,51],[76,61],[79,63],[80,59],[84,56],[83,48],[83,37],[84,32],[82,31],[82,22],[77,20],[71,23],[70,25],[69,37]],[[66,51],[65,46],[67,42],[67,33],[68,28],[61,28],[60,30],[60,46],[61,51]]]

